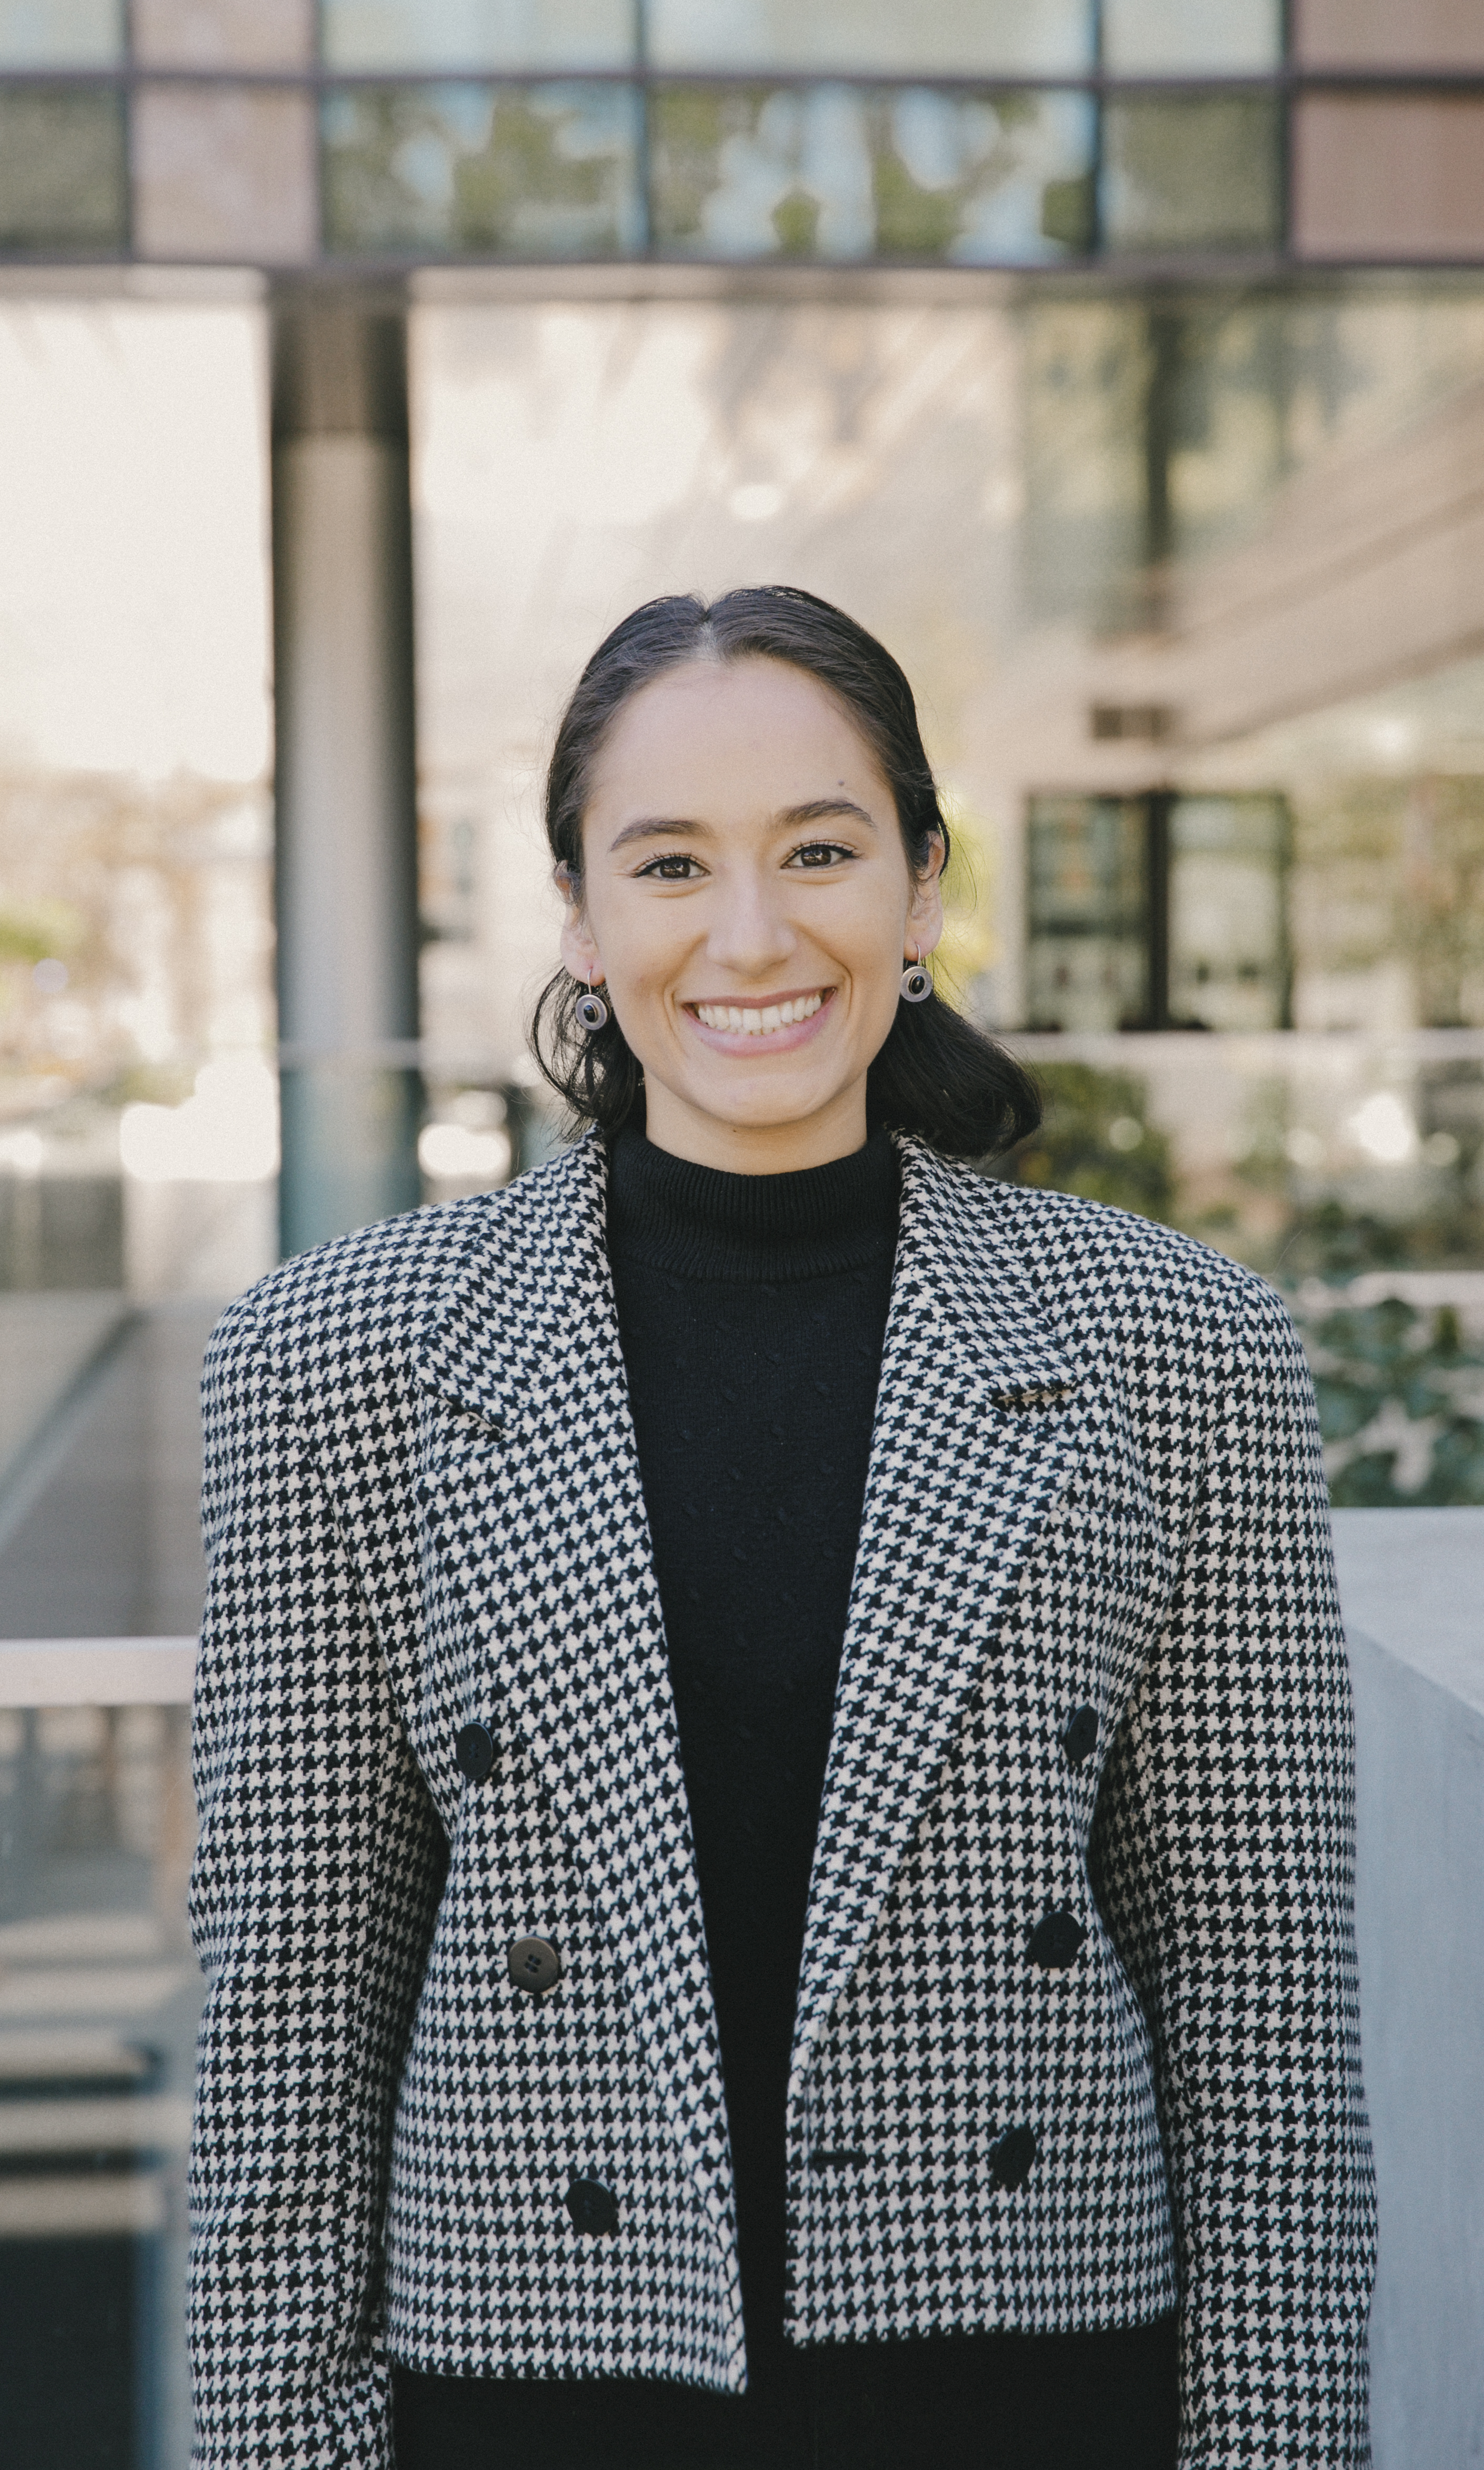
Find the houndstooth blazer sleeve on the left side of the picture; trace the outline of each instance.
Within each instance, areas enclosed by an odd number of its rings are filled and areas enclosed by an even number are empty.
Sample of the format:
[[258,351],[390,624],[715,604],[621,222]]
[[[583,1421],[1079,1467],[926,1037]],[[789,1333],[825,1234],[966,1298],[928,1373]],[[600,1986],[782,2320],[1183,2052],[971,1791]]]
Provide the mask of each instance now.
[[380,2470],[388,2144],[442,1830],[252,1307],[207,1356],[202,1522],[193,2458]]

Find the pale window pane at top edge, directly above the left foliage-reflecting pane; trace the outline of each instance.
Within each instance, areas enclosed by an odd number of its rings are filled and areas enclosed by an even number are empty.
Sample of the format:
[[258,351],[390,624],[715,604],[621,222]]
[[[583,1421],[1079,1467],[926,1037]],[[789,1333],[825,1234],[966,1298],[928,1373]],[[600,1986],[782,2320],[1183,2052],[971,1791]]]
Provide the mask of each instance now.
[[321,0],[326,69],[627,69],[632,0]]

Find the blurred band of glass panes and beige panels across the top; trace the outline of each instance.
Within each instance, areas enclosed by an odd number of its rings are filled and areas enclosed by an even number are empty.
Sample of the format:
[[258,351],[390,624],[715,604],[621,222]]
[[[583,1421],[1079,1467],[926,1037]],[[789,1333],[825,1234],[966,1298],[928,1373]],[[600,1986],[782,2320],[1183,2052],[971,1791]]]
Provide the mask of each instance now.
[[1469,0],[5,0],[30,257],[1467,257]]

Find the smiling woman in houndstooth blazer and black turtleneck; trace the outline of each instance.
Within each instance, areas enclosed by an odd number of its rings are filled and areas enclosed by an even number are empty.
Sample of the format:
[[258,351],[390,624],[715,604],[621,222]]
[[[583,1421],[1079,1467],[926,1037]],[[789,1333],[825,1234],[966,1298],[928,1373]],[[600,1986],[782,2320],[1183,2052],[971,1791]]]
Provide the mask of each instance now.
[[1035,1097],[849,618],[637,610],[548,832],[588,1136],[212,1344],[198,2458],[1358,2465],[1291,1326],[956,1163]]

